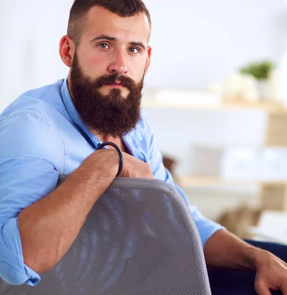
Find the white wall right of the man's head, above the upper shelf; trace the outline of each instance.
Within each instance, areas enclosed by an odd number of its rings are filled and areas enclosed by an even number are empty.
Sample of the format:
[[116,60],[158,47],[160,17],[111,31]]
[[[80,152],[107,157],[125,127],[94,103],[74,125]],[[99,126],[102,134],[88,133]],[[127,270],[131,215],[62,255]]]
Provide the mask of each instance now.
[[154,48],[147,85],[206,88],[250,60],[278,61],[287,51],[284,0],[145,2]]

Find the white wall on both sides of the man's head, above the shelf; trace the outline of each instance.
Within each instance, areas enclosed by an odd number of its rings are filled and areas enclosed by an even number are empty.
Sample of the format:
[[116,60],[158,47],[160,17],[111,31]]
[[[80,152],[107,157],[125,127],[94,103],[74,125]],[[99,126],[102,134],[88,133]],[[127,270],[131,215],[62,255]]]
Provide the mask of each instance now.
[[[0,112],[67,75],[58,55],[73,0],[0,0]],[[285,1],[286,2],[286,1]],[[207,88],[287,49],[284,0],[145,0],[153,21],[146,86]]]

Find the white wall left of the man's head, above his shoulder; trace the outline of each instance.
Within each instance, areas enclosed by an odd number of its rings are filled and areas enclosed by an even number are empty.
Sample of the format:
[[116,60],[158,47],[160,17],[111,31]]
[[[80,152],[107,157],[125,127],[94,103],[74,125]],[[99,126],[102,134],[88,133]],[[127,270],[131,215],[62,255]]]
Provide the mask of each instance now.
[[58,54],[72,0],[0,0],[0,112],[19,94],[66,77]]

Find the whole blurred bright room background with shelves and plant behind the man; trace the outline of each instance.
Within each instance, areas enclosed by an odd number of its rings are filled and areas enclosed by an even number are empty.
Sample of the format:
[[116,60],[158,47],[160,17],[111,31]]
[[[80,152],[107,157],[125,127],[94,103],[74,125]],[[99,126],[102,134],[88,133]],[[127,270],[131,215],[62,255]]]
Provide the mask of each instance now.
[[[65,78],[73,0],[0,0],[0,113]],[[143,109],[191,205],[241,237],[287,243],[287,0],[145,0]]]

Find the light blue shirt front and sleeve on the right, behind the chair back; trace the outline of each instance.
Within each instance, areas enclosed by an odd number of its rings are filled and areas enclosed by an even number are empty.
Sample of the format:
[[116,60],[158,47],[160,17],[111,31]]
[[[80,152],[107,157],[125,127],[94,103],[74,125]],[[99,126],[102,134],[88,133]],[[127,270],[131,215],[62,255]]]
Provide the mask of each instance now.
[[206,241],[215,232],[217,232],[219,230],[225,230],[225,228],[223,226],[221,226],[220,224],[205,218],[201,214],[201,212],[199,211],[198,207],[190,206],[188,204],[188,200],[187,200],[187,197],[186,197],[184,191],[178,185],[176,185],[174,183],[171,173],[164,167],[162,154],[161,154],[159,148],[157,147],[157,143],[154,139],[154,135],[153,135],[151,128],[148,126],[146,120],[144,120],[143,122],[145,124],[144,129],[146,130],[145,137],[148,139],[147,149],[149,150],[149,158],[147,159],[147,162],[149,163],[149,165],[152,169],[153,176],[156,179],[163,180],[163,181],[173,185],[179,191],[179,193],[182,195],[182,197],[184,198],[185,202],[187,203],[187,205],[190,209],[190,212],[194,218],[194,221],[197,225],[197,228],[198,228],[200,236],[201,236],[201,243],[202,243],[202,246],[204,247]]

